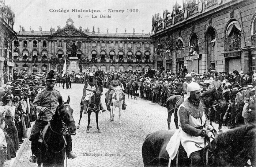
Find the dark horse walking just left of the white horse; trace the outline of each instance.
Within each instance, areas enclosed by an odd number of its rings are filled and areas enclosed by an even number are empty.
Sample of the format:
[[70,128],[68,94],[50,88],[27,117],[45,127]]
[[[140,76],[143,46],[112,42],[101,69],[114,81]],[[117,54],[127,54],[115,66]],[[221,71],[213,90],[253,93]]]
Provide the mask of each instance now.
[[[99,102],[101,101],[101,95],[102,94],[100,92],[95,90],[94,95],[92,97],[90,97],[90,100],[88,101],[88,104],[87,104],[88,125],[87,125],[86,133],[90,133],[89,128],[92,128],[92,126],[90,125],[92,112],[95,112],[95,115],[96,115],[96,123],[97,123],[98,133],[101,133],[101,130],[99,129],[99,125],[98,125]],[[84,104],[83,104],[83,107],[84,107]],[[82,119],[82,116],[83,116],[83,109],[80,110],[80,119],[78,122],[77,129],[80,128],[80,121]]]

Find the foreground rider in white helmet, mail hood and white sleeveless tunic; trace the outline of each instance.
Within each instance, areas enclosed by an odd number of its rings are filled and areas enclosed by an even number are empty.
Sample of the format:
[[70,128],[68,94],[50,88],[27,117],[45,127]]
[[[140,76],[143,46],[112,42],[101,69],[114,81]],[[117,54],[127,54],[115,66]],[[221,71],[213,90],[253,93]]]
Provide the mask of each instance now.
[[[205,137],[213,137],[213,127],[204,113],[200,97],[201,88],[198,83],[191,82],[187,89],[188,98],[178,108],[178,126],[167,144],[166,150],[170,159],[174,159],[181,145],[191,159],[190,166],[203,166],[201,155],[205,147]],[[210,139],[212,141],[212,139]],[[170,147],[171,146],[171,147]]]

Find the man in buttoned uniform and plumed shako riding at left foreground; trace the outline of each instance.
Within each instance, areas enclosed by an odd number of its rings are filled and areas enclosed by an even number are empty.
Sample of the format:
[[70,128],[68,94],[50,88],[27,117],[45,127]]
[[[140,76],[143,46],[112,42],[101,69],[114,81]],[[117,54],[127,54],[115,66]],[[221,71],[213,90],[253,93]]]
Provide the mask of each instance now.
[[[51,70],[46,75],[46,88],[37,94],[34,102],[31,104],[31,109],[39,112],[37,120],[31,130],[30,141],[31,141],[31,151],[32,156],[30,157],[30,162],[37,162],[38,157],[38,146],[39,146],[39,136],[40,131],[48,124],[48,121],[52,120],[53,114],[57,109],[57,102],[62,99],[60,92],[54,89],[56,79],[54,76],[54,71]],[[76,158],[75,152],[72,151],[71,136],[66,136],[67,146],[66,153],[67,157],[74,159]]]

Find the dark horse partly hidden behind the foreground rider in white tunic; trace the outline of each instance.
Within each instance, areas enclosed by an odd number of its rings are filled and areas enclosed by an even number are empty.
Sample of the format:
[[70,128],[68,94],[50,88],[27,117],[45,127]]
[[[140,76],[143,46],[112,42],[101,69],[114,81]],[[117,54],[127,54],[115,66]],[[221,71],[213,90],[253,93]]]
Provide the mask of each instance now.
[[[167,124],[168,129],[170,130],[170,122],[171,122],[171,116],[174,113],[174,123],[176,126],[176,129],[178,129],[178,117],[177,117],[177,109],[181,105],[181,103],[184,101],[184,97],[180,95],[173,95],[170,96],[167,101],[167,112],[168,112],[168,118],[167,118]],[[215,107],[217,105],[220,106],[220,108],[223,108],[226,106],[226,100],[223,96],[222,89],[219,88],[211,88],[204,92],[201,97],[201,102],[204,107],[204,111],[206,115],[208,115],[208,110],[211,107]],[[225,114],[225,113],[224,113]],[[211,116],[210,116],[211,118]],[[211,119],[210,119],[211,121]],[[221,122],[221,120],[220,120]],[[219,123],[219,131],[221,131],[221,124]]]

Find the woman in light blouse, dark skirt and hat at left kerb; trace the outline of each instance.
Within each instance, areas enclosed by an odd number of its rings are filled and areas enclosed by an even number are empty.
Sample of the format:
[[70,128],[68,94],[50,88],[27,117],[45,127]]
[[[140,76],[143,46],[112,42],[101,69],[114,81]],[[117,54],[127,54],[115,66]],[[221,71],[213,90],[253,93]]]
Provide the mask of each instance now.
[[10,135],[16,151],[19,149],[19,137],[18,137],[17,128],[15,126],[15,121],[14,121],[15,108],[12,106],[12,100],[13,98],[11,96],[7,96],[5,100],[7,104],[5,105],[5,112],[6,112],[5,117],[8,125],[6,132],[8,133],[8,135]]

